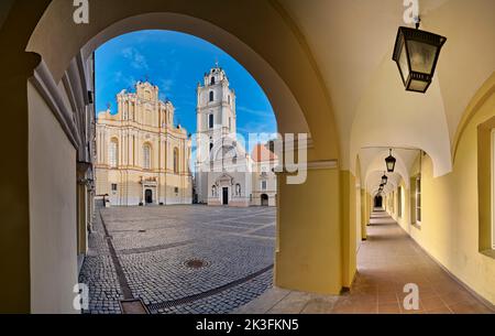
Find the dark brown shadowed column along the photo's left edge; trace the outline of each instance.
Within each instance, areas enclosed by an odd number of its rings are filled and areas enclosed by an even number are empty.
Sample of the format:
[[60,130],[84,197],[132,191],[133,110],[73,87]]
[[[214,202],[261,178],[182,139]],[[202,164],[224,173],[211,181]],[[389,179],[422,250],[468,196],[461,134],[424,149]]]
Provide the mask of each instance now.
[[0,188],[0,313],[31,311],[28,79],[41,57],[26,53],[25,45],[50,2],[14,1],[1,26],[0,43],[8,47],[0,53],[0,100],[8,127],[0,143],[9,163],[0,165],[6,177]]

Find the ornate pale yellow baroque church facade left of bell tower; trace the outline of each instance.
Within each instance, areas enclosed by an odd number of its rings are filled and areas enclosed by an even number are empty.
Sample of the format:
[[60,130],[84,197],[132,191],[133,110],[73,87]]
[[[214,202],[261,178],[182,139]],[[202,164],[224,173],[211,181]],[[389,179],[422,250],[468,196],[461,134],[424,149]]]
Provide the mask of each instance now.
[[191,204],[191,139],[158,87],[138,83],[98,115],[96,193],[111,206]]

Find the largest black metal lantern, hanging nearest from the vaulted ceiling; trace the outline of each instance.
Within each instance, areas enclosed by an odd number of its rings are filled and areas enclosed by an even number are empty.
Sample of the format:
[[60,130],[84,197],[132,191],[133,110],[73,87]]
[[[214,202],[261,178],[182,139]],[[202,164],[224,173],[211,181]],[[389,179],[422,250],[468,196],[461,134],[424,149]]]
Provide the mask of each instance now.
[[408,91],[426,93],[433,78],[440,50],[447,37],[416,29],[399,26],[392,57]]

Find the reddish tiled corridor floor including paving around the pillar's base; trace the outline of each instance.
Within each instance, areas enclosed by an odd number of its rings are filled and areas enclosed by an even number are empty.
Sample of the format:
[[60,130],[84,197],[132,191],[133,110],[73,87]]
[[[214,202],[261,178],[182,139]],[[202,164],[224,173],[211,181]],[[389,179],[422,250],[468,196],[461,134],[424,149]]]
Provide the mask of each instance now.
[[[419,310],[406,311],[404,286],[419,288]],[[374,213],[358,253],[350,292],[319,295],[274,288],[239,308],[245,314],[476,314],[493,313],[446,273],[386,214]]]

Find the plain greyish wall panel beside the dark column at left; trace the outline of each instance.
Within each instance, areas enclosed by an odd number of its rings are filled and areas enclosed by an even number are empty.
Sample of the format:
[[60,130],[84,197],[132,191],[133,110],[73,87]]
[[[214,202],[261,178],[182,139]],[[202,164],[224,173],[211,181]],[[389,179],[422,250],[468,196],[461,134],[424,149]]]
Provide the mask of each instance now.
[[75,312],[76,150],[31,84],[28,94],[31,312]]

